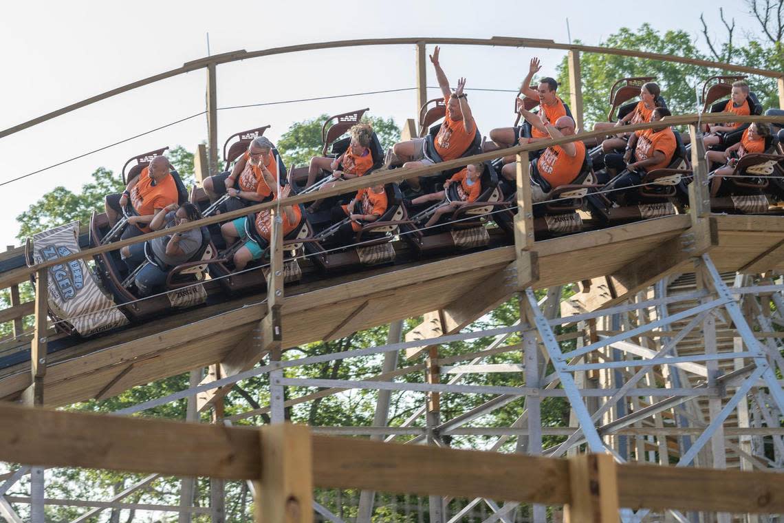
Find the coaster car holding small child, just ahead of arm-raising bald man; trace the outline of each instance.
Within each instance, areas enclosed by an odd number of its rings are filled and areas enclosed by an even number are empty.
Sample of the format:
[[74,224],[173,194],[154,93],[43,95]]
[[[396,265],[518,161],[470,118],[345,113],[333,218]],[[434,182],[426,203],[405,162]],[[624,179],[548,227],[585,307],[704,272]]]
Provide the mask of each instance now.
[[[427,229],[424,224],[442,202],[426,207],[418,206],[420,210],[411,216],[411,223],[401,227],[406,241],[419,254],[474,249],[488,245],[490,238],[485,224],[492,217],[490,213],[508,204],[503,202],[503,194],[498,187],[498,173],[490,162],[485,162],[484,165],[481,176],[482,191],[475,202],[459,207],[452,214],[442,215],[434,227]],[[447,190],[448,198],[452,202],[460,200],[457,185],[458,183],[452,183]]]

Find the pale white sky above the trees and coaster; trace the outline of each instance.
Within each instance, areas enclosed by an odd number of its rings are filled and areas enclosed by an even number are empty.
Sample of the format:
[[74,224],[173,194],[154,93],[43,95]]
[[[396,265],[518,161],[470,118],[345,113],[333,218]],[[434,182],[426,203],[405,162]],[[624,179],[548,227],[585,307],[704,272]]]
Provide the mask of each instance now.
[[[358,7],[361,5],[361,8]],[[180,67],[206,55],[305,42],[350,38],[517,36],[596,45],[622,25],[637,27],[645,17],[628,5],[612,14],[615,2],[552,0],[528,2],[2,2],[0,129],[72,104],[119,85]],[[714,31],[718,7],[734,16],[740,30],[754,30],[741,2],[662,0],[648,9],[660,31],[683,29],[704,47],[700,13]],[[546,10],[546,16],[544,15]],[[622,14],[626,13],[626,15]],[[428,49],[430,51],[430,49]],[[441,64],[454,84],[516,89],[528,60],[542,58],[542,74],[555,75],[561,51],[448,46]],[[397,89],[415,85],[412,45],[371,46],[256,58],[218,67],[218,107],[313,96]],[[353,65],[358,64],[358,65]],[[0,182],[91,151],[205,109],[205,70],[147,85],[0,139]],[[437,85],[428,66],[428,85]],[[434,96],[436,91],[430,93]],[[472,93],[471,106],[485,134],[511,124],[510,93]],[[271,124],[265,136],[277,140],[292,122],[321,113],[370,107],[400,125],[413,118],[416,93],[389,93],[339,100],[219,111],[219,144],[232,133]],[[78,191],[99,167],[119,176],[133,155],[169,145],[193,150],[206,138],[205,117],[191,119],[107,151],[0,187],[0,248],[16,243],[16,216],[46,191],[64,185]]]

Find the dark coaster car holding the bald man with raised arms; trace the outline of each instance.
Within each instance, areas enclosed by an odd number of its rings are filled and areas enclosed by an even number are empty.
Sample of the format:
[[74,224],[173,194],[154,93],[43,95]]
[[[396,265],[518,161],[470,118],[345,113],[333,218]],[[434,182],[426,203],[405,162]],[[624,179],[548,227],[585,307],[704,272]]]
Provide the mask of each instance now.
[[[503,165],[497,165],[500,171]],[[514,236],[514,215],[517,214],[517,187],[514,182],[499,176],[499,187],[505,194],[504,202],[509,209],[493,215],[495,223]],[[585,198],[591,189],[601,187],[594,183],[593,165],[586,152],[579,175],[568,185],[555,187],[550,191],[547,202],[533,205],[534,234],[536,239],[553,238],[584,230],[580,210],[585,208]]]

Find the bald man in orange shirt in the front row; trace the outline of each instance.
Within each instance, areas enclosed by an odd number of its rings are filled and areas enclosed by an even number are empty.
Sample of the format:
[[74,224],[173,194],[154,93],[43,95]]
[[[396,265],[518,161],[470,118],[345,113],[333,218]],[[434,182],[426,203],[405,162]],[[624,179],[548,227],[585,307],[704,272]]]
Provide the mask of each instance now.
[[117,223],[122,216],[122,208],[130,202],[137,216],[128,220],[122,239],[132,238],[150,232],[150,222],[154,216],[167,205],[177,203],[177,185],[171,174],[172,165],[165,156],[156,156],[139,176],[128,182],[122,194],[108,194],[104,200],[104,208],[109,223]]

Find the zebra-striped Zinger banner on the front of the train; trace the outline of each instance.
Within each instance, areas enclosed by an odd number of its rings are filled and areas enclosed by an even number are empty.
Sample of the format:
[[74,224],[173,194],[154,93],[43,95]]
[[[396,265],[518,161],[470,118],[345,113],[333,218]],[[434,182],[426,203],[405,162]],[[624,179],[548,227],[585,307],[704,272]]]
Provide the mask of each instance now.
[[[34,263],[57,260],[79,251],[78,222],[33,236]],[[128,323],[128,318],[103,294],[85,260],[72,260],[49,268],[49,313],[70,324],[82,336]]]

